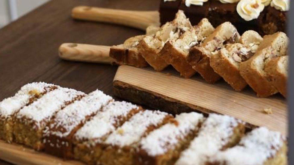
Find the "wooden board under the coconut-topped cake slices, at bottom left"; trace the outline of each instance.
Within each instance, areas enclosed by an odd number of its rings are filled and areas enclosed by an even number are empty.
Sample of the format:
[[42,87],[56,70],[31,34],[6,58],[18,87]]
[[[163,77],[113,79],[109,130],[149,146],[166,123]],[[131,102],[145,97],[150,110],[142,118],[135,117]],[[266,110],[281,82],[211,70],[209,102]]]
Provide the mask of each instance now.
[[0,140],[0,159],[14,164],[42,164],[42,165],[82,165],[83,163],[75,160],[64,161],[42,152],[19,144],[8,144]]

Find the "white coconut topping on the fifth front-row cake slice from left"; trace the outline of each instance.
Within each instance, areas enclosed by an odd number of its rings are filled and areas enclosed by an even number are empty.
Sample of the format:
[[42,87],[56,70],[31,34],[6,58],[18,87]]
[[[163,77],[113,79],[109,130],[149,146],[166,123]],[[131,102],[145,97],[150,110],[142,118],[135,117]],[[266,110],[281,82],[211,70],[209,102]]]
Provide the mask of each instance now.
[[161,124],[167,115],[167,113],[160,111],[139,112],[111,133],[105,143],[123,147],[138,142],[148,127]]

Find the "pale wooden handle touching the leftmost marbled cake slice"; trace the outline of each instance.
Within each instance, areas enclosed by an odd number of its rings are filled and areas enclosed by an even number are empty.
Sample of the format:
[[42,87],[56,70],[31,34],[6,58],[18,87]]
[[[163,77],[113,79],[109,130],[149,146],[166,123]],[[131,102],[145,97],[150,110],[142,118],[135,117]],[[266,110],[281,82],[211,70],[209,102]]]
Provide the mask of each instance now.
[[109,50],[110,46],[76,43],[64,43],[58,49],[59,57],[64,60],[111,64]]

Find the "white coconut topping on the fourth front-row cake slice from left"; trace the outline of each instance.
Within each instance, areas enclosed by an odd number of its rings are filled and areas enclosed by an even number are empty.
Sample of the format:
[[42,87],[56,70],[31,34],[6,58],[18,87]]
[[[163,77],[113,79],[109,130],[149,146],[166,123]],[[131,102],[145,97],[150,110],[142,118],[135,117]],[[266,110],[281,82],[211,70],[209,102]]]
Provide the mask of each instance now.
[[74,135],[77,140],[99,139],[116,129],[119,123],[133,109],[139,108],[129,102],[110,102]]

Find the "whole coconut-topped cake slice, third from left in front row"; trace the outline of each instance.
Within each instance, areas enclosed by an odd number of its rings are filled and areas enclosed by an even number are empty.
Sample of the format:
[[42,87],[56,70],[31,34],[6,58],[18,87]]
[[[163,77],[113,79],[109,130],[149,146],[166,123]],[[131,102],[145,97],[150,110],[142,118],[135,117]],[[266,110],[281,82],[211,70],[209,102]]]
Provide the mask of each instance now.
[[95,90],[58,111],[44,130],[45,152],[64,159],[72,158],[74,133],[110,101],[111,96]]

